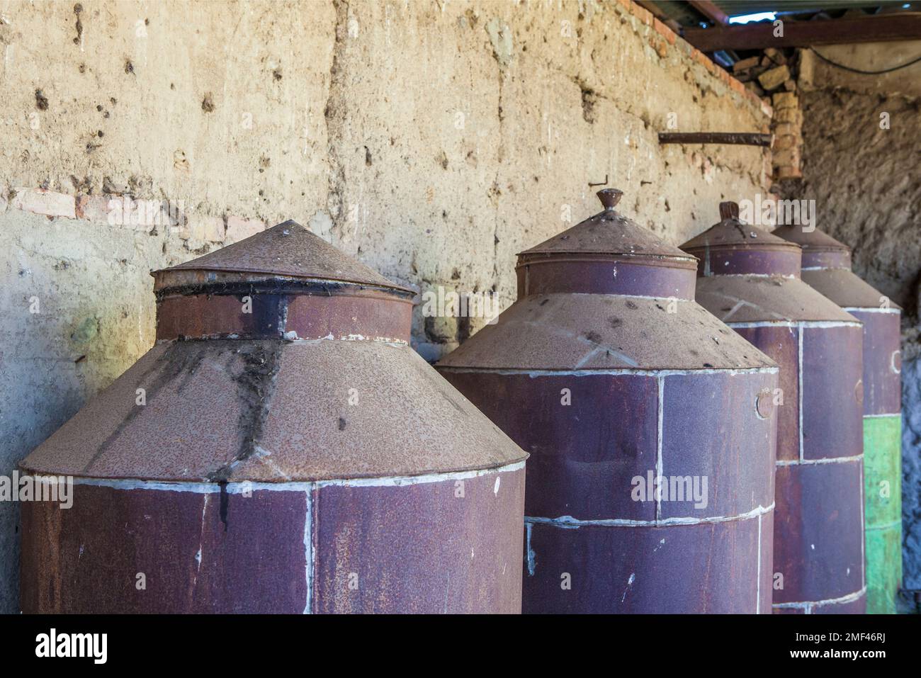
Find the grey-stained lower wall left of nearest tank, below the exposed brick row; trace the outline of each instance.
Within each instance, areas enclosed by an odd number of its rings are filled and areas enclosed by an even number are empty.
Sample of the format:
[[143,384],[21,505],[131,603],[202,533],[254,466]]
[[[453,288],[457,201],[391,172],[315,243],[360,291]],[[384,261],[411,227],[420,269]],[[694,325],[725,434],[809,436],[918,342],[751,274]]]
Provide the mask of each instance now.
[[[162,242],[20,210],[0,213],[0,227],[0,475],[9,477],[153,345],[147,272]],[[16,502],[0,501],[0,613],[19,610],[18,517]]]

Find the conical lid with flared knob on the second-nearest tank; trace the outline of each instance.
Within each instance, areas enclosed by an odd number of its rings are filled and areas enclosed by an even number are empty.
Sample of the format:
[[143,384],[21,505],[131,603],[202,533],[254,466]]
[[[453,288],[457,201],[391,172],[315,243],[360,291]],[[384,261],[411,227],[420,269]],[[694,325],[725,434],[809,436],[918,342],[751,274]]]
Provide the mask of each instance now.
[[694,257],[673,247],[648,228],[614,209],[623,191],[606,188],[598,192],[604,210],[579,222],[530,250],[519,252],[519,258],[532,255],[609,254],[632,259],[673,260],[694,263]]

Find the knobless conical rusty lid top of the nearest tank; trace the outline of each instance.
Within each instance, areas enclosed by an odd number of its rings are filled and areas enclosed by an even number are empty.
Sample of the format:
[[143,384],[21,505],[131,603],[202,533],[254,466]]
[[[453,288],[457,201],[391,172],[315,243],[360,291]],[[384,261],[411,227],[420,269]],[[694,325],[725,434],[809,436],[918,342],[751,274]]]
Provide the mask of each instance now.
[[374,269],[291,220],[190,262],[154,271],[151,275],[175,278],[176,275],[170,274],[192,271],[243,274],[243,279],[264,278],[268,275],[333,280],[413,293],[413,290],[392,283]]

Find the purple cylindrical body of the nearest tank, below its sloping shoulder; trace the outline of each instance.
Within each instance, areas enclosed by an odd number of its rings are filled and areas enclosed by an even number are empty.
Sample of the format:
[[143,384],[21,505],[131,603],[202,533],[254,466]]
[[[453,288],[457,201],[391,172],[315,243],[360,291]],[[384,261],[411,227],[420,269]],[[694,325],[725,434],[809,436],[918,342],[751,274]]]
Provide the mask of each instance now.
[[22,609],[518,613],[524,471],[465,479],[463,497],[459,482],[249,497],[76,485],[71,509],[23,505]]

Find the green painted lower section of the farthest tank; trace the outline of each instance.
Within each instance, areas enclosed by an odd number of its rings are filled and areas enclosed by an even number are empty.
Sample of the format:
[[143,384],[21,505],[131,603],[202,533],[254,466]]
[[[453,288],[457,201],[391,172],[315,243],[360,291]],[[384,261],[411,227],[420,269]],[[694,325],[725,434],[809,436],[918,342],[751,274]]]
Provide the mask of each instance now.
[[902,584],[902,416],[864,417],[867,612],[894,614]]

